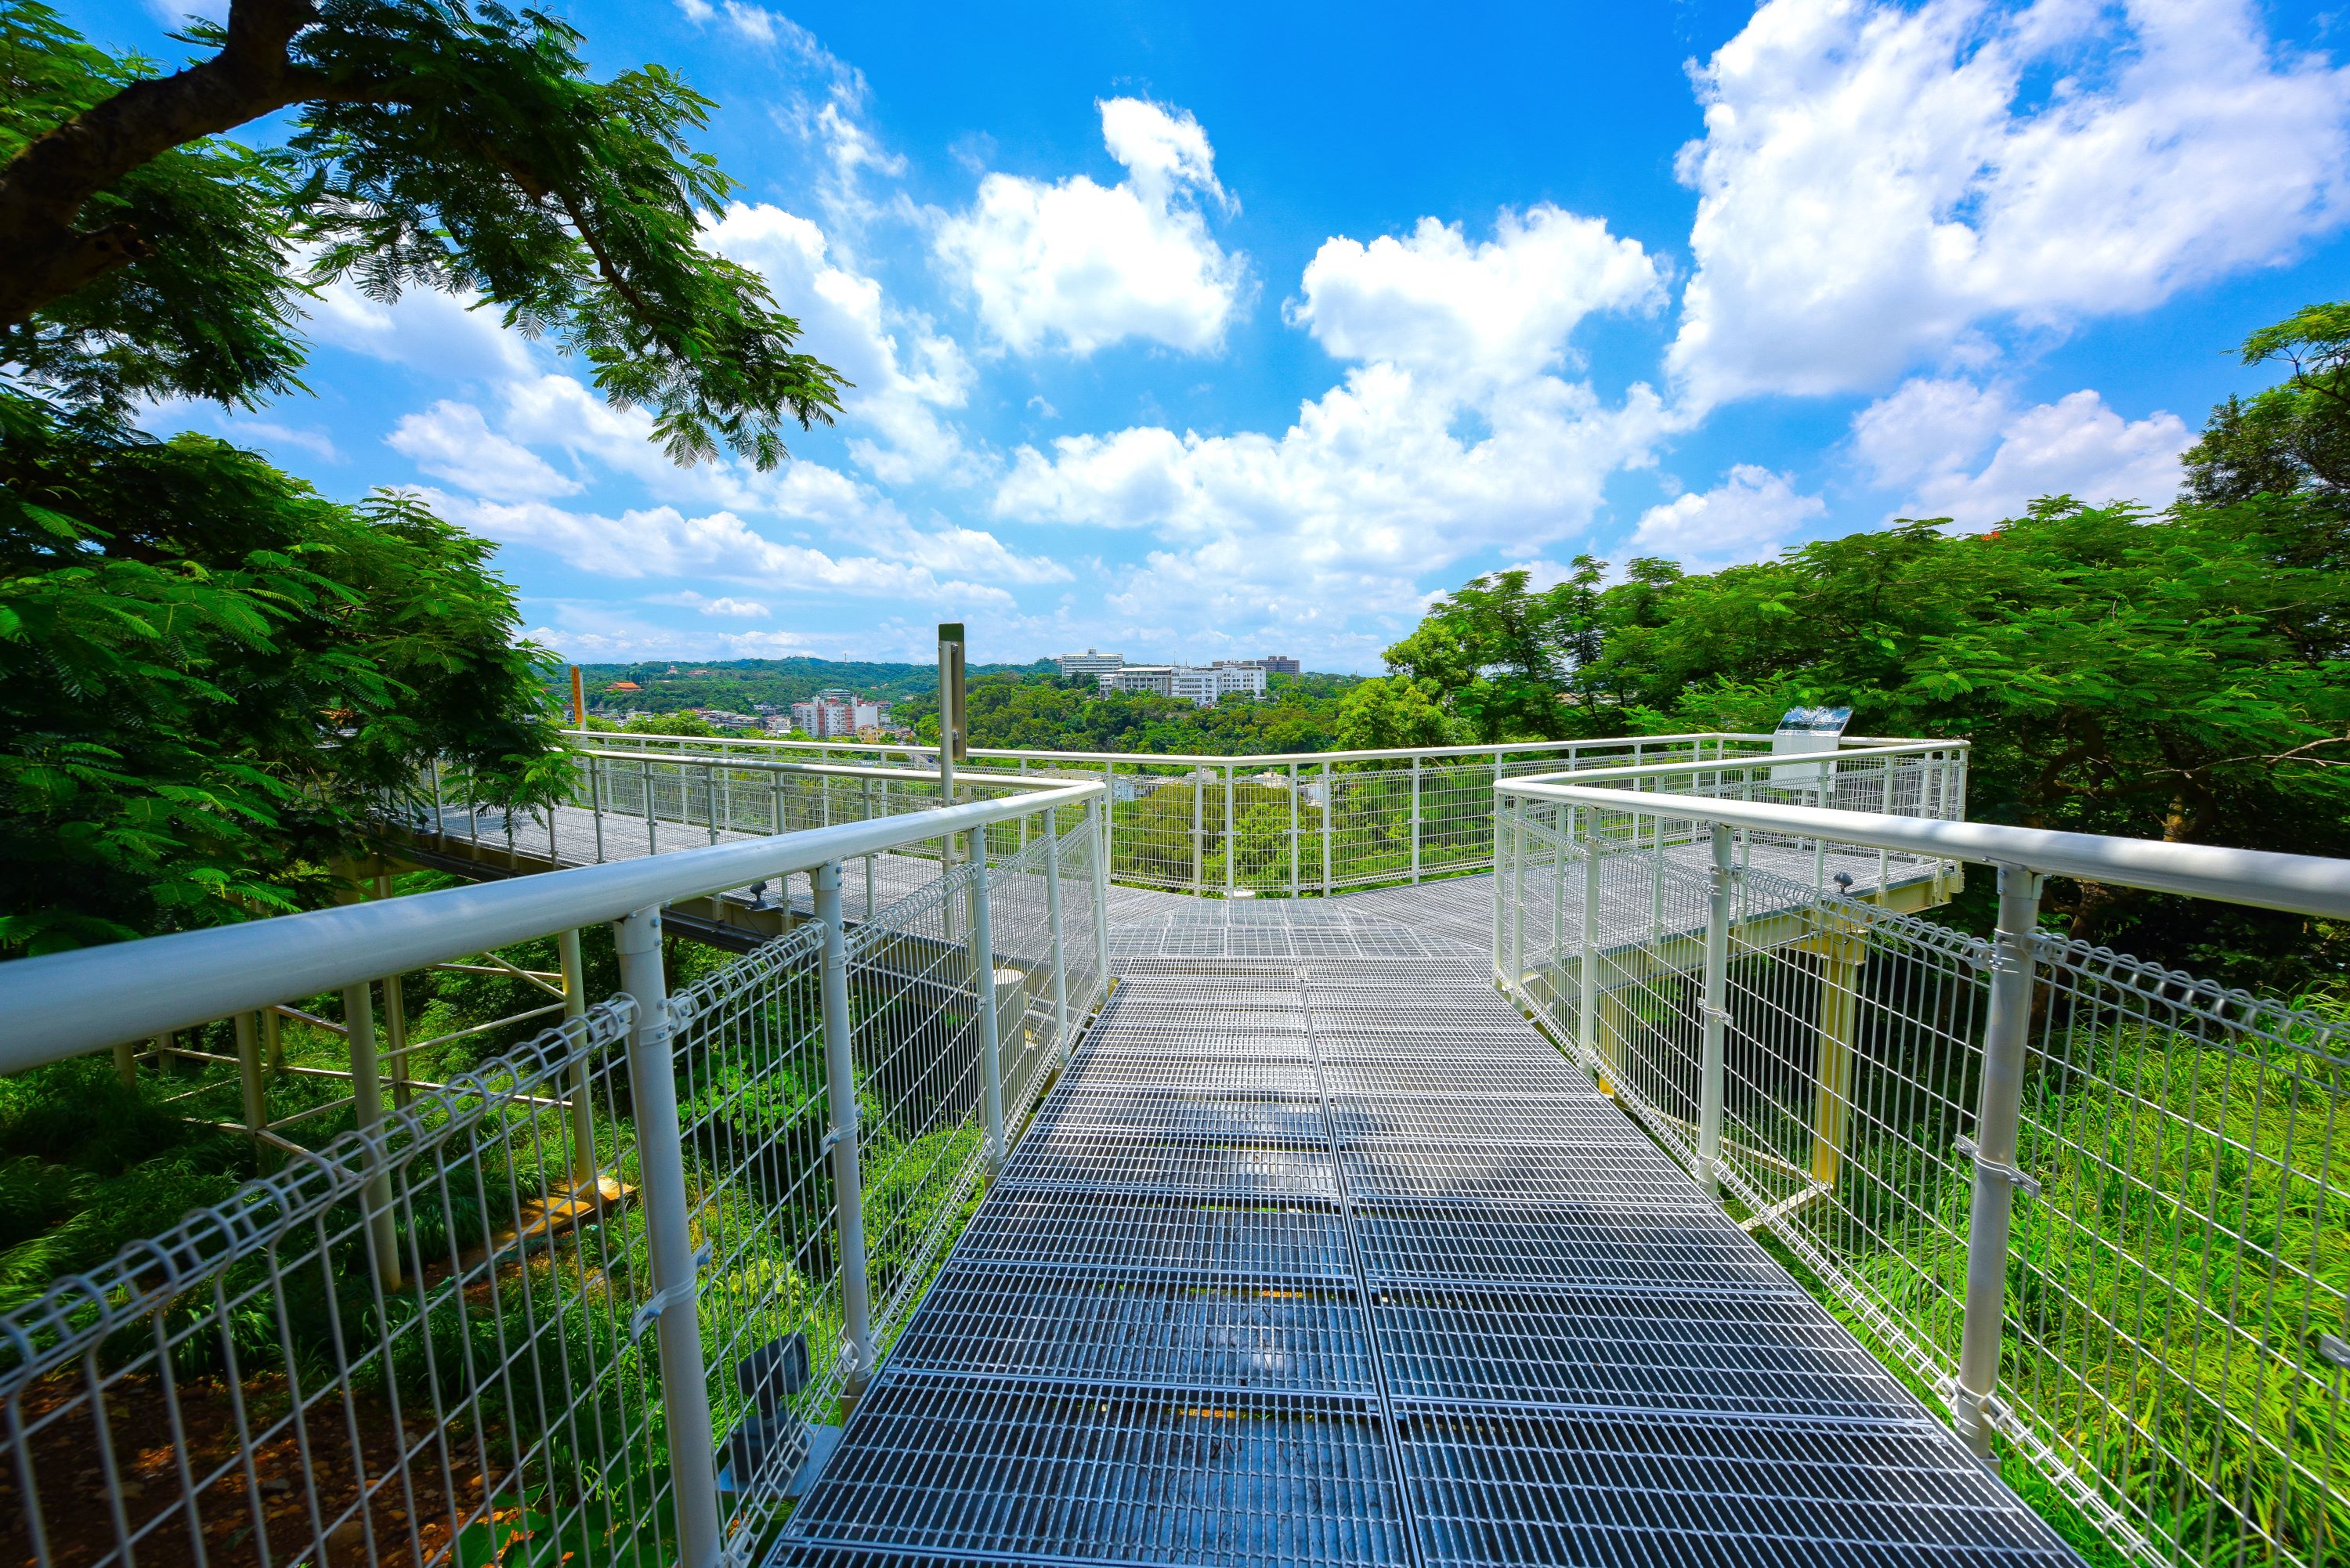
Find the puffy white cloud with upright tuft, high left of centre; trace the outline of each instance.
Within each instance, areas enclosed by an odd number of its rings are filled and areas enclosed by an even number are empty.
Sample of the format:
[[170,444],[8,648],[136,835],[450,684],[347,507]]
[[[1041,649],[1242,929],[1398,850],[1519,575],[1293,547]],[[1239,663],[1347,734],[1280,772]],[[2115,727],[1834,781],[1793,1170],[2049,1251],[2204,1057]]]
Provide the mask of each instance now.
[[1116,186],[987,174],[971,212],[940,223],[938,259],[971,289],[980,322],[1013,353],[1058,343],[1090,355],[1142,339],[1184,353],[1224,341],[1246,263],[1208,235],[1201,205],[1231,207],[1208,134],[1187,113],[1107,99],[1102,141]]

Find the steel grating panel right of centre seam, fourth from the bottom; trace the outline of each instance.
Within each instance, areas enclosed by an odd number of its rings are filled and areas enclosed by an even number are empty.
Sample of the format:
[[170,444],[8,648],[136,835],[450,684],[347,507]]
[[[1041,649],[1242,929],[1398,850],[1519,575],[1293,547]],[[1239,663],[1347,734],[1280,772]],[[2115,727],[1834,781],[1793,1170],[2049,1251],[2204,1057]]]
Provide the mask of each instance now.
[[1657,1145],[1356,1143],[1340,1154],[1358,1199],[1567,1206],[1614,1213],[1720,1208]]

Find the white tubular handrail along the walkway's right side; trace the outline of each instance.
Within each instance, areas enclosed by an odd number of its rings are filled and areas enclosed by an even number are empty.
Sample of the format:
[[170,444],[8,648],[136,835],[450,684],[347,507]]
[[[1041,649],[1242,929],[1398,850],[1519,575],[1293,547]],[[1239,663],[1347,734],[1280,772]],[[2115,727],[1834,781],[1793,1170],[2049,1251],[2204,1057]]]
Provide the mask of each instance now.
[[[1563,773],[1558,778],[1586,776]],[[1504,778],[1495,790],[1499,795],[1546,799],[1563,806],[1598,806],[1631,816],[1723,823],[1727,827],[1788,832],[1835,844],[1866,844],[1871,849],[1911,851],[1943,860],[1969,860],[1974,865],[2021,865],[2033,872],[2075,877],[2080,882],[2108,882],[2150,893],[2183,893],[2188,898],[2240,903],[2256,910],[2350,919],[2350,860],[2326,856],[2287,856],[2265,849],[2167,844],[2162,839],[2117,839],[2096,832],[1950,823],[1941,818],[1781,806],[1697,795],[1645,795],[1586,783],[1546,783],[1539,776]]]

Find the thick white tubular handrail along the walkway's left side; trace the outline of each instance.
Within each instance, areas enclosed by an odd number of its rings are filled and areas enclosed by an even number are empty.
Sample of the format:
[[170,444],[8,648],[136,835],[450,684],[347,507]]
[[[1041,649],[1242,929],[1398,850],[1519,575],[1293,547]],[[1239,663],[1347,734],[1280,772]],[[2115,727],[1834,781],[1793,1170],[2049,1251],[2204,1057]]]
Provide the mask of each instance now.
[[1100,795],[1100,783],[1067,783],[1013,799],[14,959],[0,964],[0,1072]]

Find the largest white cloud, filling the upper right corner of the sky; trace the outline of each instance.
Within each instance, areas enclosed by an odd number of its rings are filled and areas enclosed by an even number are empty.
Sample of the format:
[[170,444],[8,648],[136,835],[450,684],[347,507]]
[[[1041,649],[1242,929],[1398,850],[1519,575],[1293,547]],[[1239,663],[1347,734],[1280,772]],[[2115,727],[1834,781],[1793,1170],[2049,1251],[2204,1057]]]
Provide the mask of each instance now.
[[1701,402],[1979,362],[2343,223],[2350,73],[2247,0],[1772,0],[1697,89],[1668,362]]

